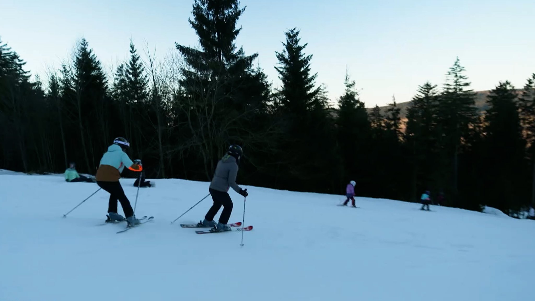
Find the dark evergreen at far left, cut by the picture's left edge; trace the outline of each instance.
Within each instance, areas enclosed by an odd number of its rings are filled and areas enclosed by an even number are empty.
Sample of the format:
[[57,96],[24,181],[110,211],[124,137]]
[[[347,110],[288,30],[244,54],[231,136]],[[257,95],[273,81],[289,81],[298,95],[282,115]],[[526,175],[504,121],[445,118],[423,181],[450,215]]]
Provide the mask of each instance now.
[[53,133],[47,127],[49,106],[39,75],[30,81],[25,64],[0,41],[0,164],[32,172],[50,167]]

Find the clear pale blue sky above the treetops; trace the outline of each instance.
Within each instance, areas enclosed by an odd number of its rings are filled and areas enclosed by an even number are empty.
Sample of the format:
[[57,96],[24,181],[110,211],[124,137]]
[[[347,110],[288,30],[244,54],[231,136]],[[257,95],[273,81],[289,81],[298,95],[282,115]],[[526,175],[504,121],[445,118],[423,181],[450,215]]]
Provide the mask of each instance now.
[[[196,45],[188,24],[193,0],[2,0],[0,38],[46,79],[85,37],[106,71],[128,58],[133,39],[144,55],[163,56],[174,43]],[[279,85],[275,51],[284,32],[301,30],[318,84],[333,102],[343,92],[346,67],[367,107],[410,101],[418,85],[444,82],[459,56],[475,90],[509,80],[521,88],[535,72],[533,0],[242,0],[247,9],[238,47],[257,52]]]

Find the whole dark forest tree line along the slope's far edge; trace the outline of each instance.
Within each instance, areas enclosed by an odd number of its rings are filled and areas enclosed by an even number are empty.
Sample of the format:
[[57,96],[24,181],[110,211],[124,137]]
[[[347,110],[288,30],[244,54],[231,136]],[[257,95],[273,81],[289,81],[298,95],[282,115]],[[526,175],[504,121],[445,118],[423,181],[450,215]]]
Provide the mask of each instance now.
[[282,84],[272,87],[257,53],[234,43],[242,13],[237,0],[195,0],[199,48],[142,59],[131,42],[111,78],[85,39],[44,81],[0,41],[0,168],[56,173],[73,161],[94,174],[123,136],[147,177],[209,181],[236,143],[240,184],[344,194],[355,180],[359,196],[418,202],[430,190],[442,205],[510,215],[535,204],[535,73],[522,88],[497,83],[479,112],[457,58],[440,87],[418,87],[402,121],[395,100],[366,110],[349,74],[330,105],[296,28],[274,53]]

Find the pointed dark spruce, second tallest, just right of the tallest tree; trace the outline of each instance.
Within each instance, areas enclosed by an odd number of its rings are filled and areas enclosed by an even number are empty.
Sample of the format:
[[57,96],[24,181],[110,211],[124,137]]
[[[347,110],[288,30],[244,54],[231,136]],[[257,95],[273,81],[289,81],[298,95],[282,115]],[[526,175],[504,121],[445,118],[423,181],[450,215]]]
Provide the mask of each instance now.
[[[299,30],[288,30],[284,50],[276,52],[282,87],[277,92],[277,112],[284,119],[284,137],[279,145],[279,162],[289,172],[278,173],[277,182],[292,183],[295,189],[303,191],[322,185],[326,177],[323,170],[333,179],[333,166],[325,158],[335,158],[335,139],[330,134],[325,100],[325,90],[316,87],[317,74],[310,74],[311,55],[305,55],[307,44],[300,44]],[[328,147],[325,147],[328,145]],[[279,163],[279,166],[282,165]],[[279,180],[280,179],[280,180]],[[323,189],[332,189],[331,185]],[[287,186],[285,187],[287,188]],[[327,191],[327,190],[323,190]]]

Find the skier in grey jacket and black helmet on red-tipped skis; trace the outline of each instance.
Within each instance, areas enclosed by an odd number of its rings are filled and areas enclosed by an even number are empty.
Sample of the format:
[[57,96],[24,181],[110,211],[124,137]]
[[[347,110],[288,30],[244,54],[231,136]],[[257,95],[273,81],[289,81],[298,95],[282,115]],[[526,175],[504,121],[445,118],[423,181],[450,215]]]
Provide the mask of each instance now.
[[[233,144],[228,148],[227,154],[217,163],[216,171],[209,188],[213,205],[204,216],[204,220],[200,222],[203,226],[213,227],[217,231],[231,229],[227,223],[231,217],[233,204],[230,195],[228,195],[228,189],[232,187],[234,191],[244,197],[249,195],[247,189],[243,190],[236,184],[238,166],[242,155],[243,150],[241,147]],[[223,205],[223,212],[221,212],[219,222],[216,224],[213,218],[219,209],[221,209],[221,205]]]

